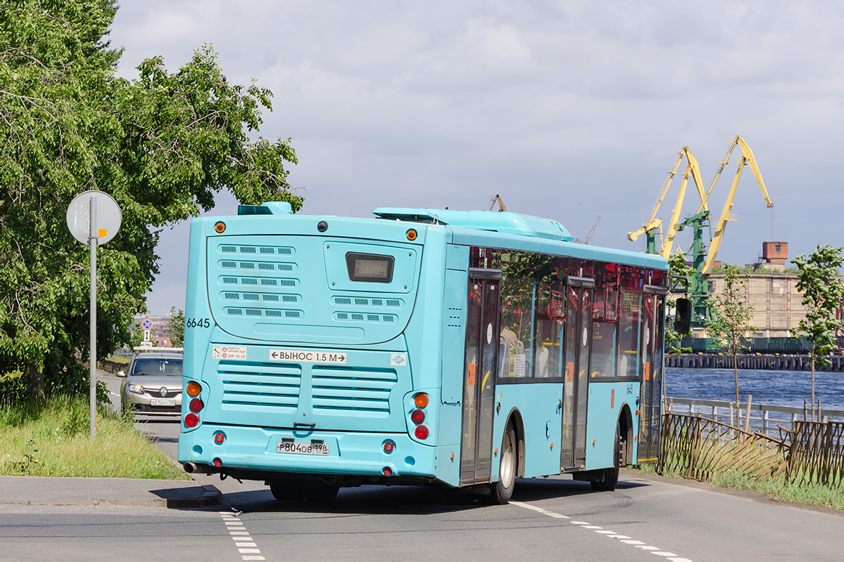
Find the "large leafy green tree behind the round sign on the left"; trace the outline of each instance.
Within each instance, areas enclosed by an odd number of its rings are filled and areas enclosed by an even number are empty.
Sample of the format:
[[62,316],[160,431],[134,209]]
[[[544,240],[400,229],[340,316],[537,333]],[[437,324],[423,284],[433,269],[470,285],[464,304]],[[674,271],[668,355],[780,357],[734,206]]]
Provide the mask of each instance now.
[[271,92],[230,84],[210,46],[176,72],[161,57],[115,74],[105,40],[116,0],[25,0],[0,7],[0,372],[30,396],[84,393],[89,251],[68,233],[75,195],[122,209],[98,252],[97,351],[130,339],[159,273],[160,230],[231,190],[242,203],[302,198],[287,183],[289,140],[257,136]]

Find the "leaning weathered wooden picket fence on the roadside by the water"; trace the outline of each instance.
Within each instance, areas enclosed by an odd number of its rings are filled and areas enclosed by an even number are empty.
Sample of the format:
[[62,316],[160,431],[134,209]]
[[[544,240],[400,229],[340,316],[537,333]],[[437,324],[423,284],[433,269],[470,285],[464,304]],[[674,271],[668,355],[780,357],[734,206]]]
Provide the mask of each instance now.
[[710,481],[728,471],[749,478],[844,485],[844,422],[797,421],[780,438],[743,431],[700,414],[663,416],[659,472]]

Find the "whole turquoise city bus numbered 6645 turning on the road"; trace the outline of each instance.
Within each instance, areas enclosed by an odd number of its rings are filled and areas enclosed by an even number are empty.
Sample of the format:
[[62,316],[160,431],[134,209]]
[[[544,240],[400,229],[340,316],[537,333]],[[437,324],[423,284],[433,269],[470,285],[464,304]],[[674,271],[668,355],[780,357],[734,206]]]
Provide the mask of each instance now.
[[500,211],[240,206],[191,226],[179,462],[279,500],[656,461],[667,262]]

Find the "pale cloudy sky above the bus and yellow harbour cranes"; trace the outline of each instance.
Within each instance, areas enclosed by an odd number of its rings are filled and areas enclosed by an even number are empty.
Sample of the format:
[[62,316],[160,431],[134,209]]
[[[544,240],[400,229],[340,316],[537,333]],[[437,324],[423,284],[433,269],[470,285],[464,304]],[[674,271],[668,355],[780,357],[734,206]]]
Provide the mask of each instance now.
[[[210,43],[230,83],[270,88],[260,135],[291,139],[306,214],[489,209],[500,195],[576,238],[594,226],[591,244],[643,251],[627,233],[678,151],[708,186],[741,135],[774,203],[745,169],[717,258],[744,265],[768,240],[789,258],[844,246],[841,29],[835,0],[124,0],[110,40],[126,78],[150,56],[176,71]],[[710,197],[716,220],[737,157]],[[695,198],[690,185],[683,216]],[[221,193],[208,214],[235,212]],[[187,232],[161,233],[150,313],[184,308]],[[677,241],[688,248],[689,229]]]

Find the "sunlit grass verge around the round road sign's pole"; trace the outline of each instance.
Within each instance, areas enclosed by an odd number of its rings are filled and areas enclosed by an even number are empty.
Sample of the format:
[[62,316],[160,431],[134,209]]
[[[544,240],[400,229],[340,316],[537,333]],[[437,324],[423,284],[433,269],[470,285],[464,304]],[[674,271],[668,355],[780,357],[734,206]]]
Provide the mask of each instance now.
[[113,410],[97,409],[89,436],[88,399],[54,397],[44,405],[0,405],[0,474],[189,480],[164,452]]

